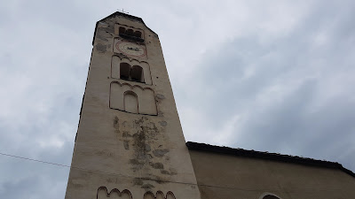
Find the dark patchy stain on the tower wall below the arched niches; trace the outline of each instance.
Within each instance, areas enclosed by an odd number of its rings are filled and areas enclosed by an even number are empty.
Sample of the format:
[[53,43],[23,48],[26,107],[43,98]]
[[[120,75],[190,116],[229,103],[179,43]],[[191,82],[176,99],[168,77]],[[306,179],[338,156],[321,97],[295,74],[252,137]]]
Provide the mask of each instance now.
[[[170,165],[170,150],[164,147],[166,121],[156,122],[149,116],[131,121],[114,117],[113,126],[118,144],[130,156],[129,164],[133,172],[155,170],[156,176],[152,177],[156,180],[159,180],[159,173],[167,176],[177,174],[177,170]],[[140,180],[135,180],[134,184],[150,187]]]

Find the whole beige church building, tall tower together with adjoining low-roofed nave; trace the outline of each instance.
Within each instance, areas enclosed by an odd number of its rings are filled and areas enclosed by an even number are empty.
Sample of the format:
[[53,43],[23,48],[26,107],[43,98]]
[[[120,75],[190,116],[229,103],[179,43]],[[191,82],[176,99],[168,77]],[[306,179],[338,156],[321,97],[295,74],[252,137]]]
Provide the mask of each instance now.
[[337,163],[185,142],[159,37],[122,12],[98,21],[66,199],[345,199]]

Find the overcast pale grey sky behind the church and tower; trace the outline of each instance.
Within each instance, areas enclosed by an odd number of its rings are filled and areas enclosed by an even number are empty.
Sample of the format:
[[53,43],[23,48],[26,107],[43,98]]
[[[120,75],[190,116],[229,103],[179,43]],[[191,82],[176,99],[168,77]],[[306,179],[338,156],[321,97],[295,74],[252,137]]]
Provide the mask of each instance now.
[[[186,141],[355,172],[355,1],[4,1],[0,153],[70,165],[95,23],[159,34]],[[64,198],[69,169],[0,156],[0,198]]]

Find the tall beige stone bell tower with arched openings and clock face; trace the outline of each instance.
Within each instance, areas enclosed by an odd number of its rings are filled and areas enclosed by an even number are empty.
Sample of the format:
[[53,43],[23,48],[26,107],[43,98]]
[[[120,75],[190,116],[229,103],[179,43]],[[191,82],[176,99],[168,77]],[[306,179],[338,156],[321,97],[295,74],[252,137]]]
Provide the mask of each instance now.
[[97,22],[66,199],[200,199],[158,35]]

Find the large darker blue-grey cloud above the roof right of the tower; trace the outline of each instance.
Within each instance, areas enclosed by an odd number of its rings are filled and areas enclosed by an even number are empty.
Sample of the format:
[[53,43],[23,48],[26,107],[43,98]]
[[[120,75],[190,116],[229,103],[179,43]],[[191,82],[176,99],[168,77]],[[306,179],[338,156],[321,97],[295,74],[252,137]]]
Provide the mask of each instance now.
[[[202,104],[199,111],[216,132],[240,115],[225,145],[338,161],[355,170],[355,33],[349,28],[355,16],[341,5],[313,9],[279,38],[263,41],[263,32],[254,33],[208,51],[196,70],[201,91],[185,92]],[[218,136],[224,134],[210,142]]]

